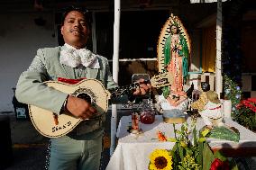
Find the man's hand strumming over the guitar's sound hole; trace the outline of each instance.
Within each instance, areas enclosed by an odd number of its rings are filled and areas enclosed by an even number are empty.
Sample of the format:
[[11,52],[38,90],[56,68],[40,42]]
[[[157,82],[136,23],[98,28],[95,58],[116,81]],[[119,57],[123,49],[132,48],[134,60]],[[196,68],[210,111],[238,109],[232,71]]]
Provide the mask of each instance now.
[[97,113],[96,109],[92,107],[91,104],[86,100],[74,97],[72,95],[69,95],[67,99],[66,109],[75,117],[82,120],[94,117]]

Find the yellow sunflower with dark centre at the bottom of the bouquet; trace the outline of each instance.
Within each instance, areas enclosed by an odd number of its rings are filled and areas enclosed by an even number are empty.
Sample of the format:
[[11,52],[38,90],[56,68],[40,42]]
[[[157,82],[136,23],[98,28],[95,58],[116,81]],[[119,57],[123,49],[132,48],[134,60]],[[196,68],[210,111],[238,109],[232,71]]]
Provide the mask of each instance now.
[[166,149],[156,149],[151,153],[150,170],[171,170],[172,157]]

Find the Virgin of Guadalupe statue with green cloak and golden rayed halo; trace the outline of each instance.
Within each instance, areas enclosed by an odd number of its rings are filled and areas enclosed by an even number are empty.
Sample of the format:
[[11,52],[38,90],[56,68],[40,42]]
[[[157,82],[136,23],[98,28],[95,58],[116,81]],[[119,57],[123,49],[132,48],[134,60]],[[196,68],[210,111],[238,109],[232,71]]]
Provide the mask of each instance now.
[[173,85],[162,88],[165,98],[173,96],[172,98],[175,98],[176,102],[180,96],[186,98],[183,85],[187,83],[191,60],[190,50],[187,30],[178,16],[170,14],[160,31],[157,46],[159,72],[170,72],[173,75]]

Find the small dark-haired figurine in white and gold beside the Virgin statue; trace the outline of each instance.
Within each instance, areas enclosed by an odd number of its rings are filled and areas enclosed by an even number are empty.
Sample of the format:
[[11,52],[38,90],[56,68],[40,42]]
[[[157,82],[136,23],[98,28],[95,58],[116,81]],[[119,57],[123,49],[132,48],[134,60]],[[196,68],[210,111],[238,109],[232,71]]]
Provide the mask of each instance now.
[[218,98],[218,94],[209,90],[210,86],[206,82],[202,82],[202,94],[199,99],[191,104],[192,109],[197,109],[207,128],[224,126],[224,115],[222,111],[222,103]]

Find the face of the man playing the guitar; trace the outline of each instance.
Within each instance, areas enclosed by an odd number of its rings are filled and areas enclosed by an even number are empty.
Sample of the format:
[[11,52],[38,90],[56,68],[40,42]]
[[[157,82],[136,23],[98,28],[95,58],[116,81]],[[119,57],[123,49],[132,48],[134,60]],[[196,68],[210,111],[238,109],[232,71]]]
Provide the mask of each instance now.
[[88,33],[87,22],[83,13],[69,12],[61,26],[64,41],[76,49],[81,49],[87,44]]

